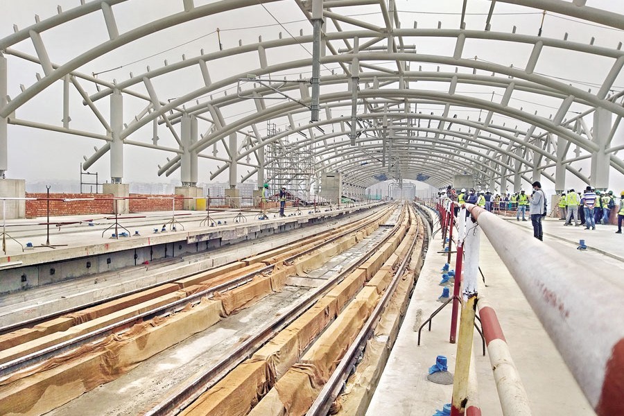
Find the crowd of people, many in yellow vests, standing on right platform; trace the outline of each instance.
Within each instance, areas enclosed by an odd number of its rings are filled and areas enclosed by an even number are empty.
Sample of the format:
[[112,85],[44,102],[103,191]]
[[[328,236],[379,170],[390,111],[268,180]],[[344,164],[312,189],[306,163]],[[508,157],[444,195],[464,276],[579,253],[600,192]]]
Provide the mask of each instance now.
[[[475,189],[461,189],[459,192],[451,187],[440,193],[441,197],[449,198],[458,205],[455,207],[455,215],[459,211],[459,205],[467,202],[487,209],[487,211],[515,211],[516,220],[526,221],[526,212],[529,211],[536,239],[542,240],[541,218],[547,214],[547,202],[544,191],[539,182],[533,182],[533,191],[528,195],[523,189],[517,193],[496,193],[490,191],[476,191]],[[569,189],[560,194],[558,209],[560,220],[565,220],[564,225],[580,226],[585,229],[596,229],[596,224],[609,223],[609,216],[613,209],[618,212],[618,230],[616,234],[622,234],[624,223],[624,191],[620,193],[619,202],[616,201],[613,191],[596,191],[593,187],[586,187],[583,193]]]

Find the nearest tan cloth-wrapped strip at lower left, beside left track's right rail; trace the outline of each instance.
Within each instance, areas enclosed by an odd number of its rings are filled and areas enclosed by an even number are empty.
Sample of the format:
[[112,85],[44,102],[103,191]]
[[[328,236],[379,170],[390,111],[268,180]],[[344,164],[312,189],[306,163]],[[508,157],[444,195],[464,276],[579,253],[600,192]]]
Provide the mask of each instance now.
[[0,380],[0,415],[40,415],[132,370],[223,316],[220,302],[202,300],[169,318],[137,324],[121,335],[83,345]]

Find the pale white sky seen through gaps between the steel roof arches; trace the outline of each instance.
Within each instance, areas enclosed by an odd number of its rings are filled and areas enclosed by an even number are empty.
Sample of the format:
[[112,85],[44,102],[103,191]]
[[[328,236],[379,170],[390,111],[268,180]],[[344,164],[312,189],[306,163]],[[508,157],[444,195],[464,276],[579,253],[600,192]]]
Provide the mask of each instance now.
[[[200,6],[205,3],[214,3],[214,1],[196,0],[195,3],[196,6]],[[39,15],[42,20],[55,15],[57,4],[64,10],[69,10],[78,6],[79,1],[0,0],[0,10],[3,10],[0,14],[0,37],[10,35],[13,32],[13,24],[17,24],[19,28],[25,28],[33,24],[35,14]],[[467,29],[483,30],[485,14],[489,10],[489,5],[489,0],[468,1]],[[587,6],[604,8],[624,15],[624,1],[588,0]],[[397,1],[397,9],[401,12],[401,26],[404,28],[413,27],[414,21],[417,21],[419,28],[436,28],[438,21],[441,22],[442,28],[457,28],[459,26],[461,7],[461,0]],[[300,30],[304,34],[311,33],[311,25],[304,19],[294,2],[278,1],[276,3],[268,3],[266,8],[293,35],[298,35]],[[132,0],[114,6],[113,10],[119,31],[123,33],[136,27],[139,22],[152,21],[173,12],[179,12],[182,10],[182,0]],[[379,22],[381,17],[379,17],[378,12],[376,15],[368,14],[376,10],[379,10],[379,8],[361,7],[349,8],[348,10],[341,9],[340,13],[345,15],[363,14],[357,18]],[[526,14],[520,15],[517,13]],[[537,34],[542,17],[539,14],[539,10],[503,3],[496,4],[495,14],[492,20],[492,31],[510,32],[513,26],[517,26],[517,33],[531,35]],[[121,66],[121,69],[115,69],[99,75],[100,78],[106,80],[116,79],[121,81],[128,78],[130,71],[138,74],[144,72],[147,66],[150,66],[152,69],[161,67],[164,60],[168,60],[170,63],[177,62],[181,59],[182,54],[186,54],[187,57],[193,57],[200,53],[200,49],[203,49],[205,53],[216,51],[218,50],[218,41],[214,31],[217,27],[221,30],[221,43],[226,49],[236,46],[239,40],[243,44],[257,42],[260,35],[263,37],[263,40],[275,39],[279,32],[284,37],[288,37],[285,29],[277,26],[275,19],[266,10],[254,7],[250,8],[250,10],[206,17],[205,19],[155,33],[137,42],[123,46],[116,51],[107,53],[101,58],[89,62],[84,67],[78,69],[78,71],[98,73]],[[349,26],[343,24],[343,28],[347,30]],[[574,22],[567,17],[564,19],[552,14],[547,15],[544,20],[544,33],[542,35],[544,37],[562,39],[564,33],[569,33],[569,41],[589,43],[591,37],[595,37],[596,45],[608,46],[609,48],[615,47],[618,42],[624,42],[623,31],[614,31],[609,28],[600,28],[593,24]],[[96,44],[105,42],[107,40],[107,31],[101,13],[94,13],[79,19],[79,21],[73,21],[71,24],[46,31],[42,37],[52,62],[62,64],[94,47]],[[463,56],[478,56],[480,60],[505,65],[514,64],[514,67],[522,67],[531,51],[530,45],[515,48],[509,48],[507,45],[491,48],[489,47],[490,44],[487,44],[488,47],[484,47],[485,45],[485,41],[467,42]],[[340,46],[343,47],[343,45]],[[454,40],[451,38],[448,40],[419,38],[417,40],[418,53],[448,54],[452,53],[453,47]],[[17,44],[15,49],[35,54],[30,41]],[[306,51],[301,49],[300,46],[293,46],[288,50],[268,51],[268,59],[284,60],[283,56],[278,56],[279,54],[296,55],[300,56],[300,58],[309,56],[306,55]],[[608,60],[598,58],[587,60],[585,56],[576,57],[574,54],[560,56],[546,49],[543,55],[544,57],[539,60],[535,72],[565,78],[566,83],[573,83],[573,85],[583,87],[586,90],[589,88],[595,90],[596,85],[602,83],[603,77],[612,65]],[[7,58],[9,60],[9,95],[16,96],[19,94],[19,85],[24,84],[26,87],[32,85],[35,82],[35,73],[42,73],[42,69],[35,64],[24,64],[10,55]],[[422,64],[422,66],[423,70],[428,71],[435,70],[437,65]],[[213,80],[225,78],[229,73],[232,73],[232,69],[241,71],[241,68],[247,67],[258,67],[257,55],[234,56],[228,59],[227,64],[225,62],[219,62],[218,65],[209,63]],[[333,68],[338,69],[339,67],[338,65],[333,65]],[[198,88],[201,78],[196,69],[180,72],[175,76],[154,80],[159,98],[175,98],[191,89]],[[324,73],[327,73],[325,69]],[[309,77],[309,74],[304,73],[303,76]],[[89,94],[95,92],[94,85],[83,83],[83,86],[87,88]],[[477,94],[485,95],[483,92],[477,92],[476,89],[471,91],[469,86],[462,86],[462,89],[465,92],[476,92]],[[624,89],[623,74],[616,80],[614,89],[618,91]],[[144,92],[144,90],[141,92]],[[502,92],[500,93],[502,94]],[[489,99],[491,97],[485,96],[480,98]],[[514,99],[526,99],[527,103],[516,101],[515,105],[523,106],[525,110],[535,107],[535,110],[544,113],[545,116],[548,116],[548,112],[554,114],[557,111],[556,109],[559,105],[557,101],[552,103],[535,103],[535,101],[531,101],[532,98],[535,97],[527,94],[523,96],[521,92],[517,92],[514,93],[514,98],[510,105],[514,105]],[[107,114],[107,104],[105,103],[107,103],[107,99],[99,103],[99,106],[103,109],[103,113]],[[140,103],[138,100],[135,103],[130,99],[126,99],[124,101],[124,119],[131,120],[143,106],[144,103]],[[236,109],[224,108],[223,112],[226,117],[234,117],[236,111],[245,112],[253,108],[252,103],[248,103],[236,107]],[[571,110],[574,109],[572,108]],[[469,111],[476,112],[478,110],[458,109],[457,111],[460,116],[465,116],[469,114],[467,113]],[[460,111],[465,112],[461,114]],[[40,97],[33,99],[20,108],[16,115],[19,119],[40,120],[45,123],[61,125],[62,83],[55,83],[49,87],[46,92],[40,94]],[[472,118],[476,118],[476,114],[471,116]],[[71,128],[78,130],[98,131],[98,127],[101,127],[91,112],[80,103],[80,97],[75,92],[72,92],[71,95],[71,119]],[[496,119],[497,116],[494,116],[494,121],[500,124],[519,124],[518,121],[512,119],[505,120],[501,116],[498,117],[498,120]],[[284,122],[284,120],[277,120],[278,128],[279,124]],[[306,122],[305,114],[302,115],[299,122]],[[259,127],[264,129],[263,125]],[[132,135],[130,139],[149,142],[151,129],[150,124],[146,128],[139,130],[135,135]],[[99,132],[103,133],[103,129],[100,129]],[[177,147],[173,139],[170,137],[165,138],[166,134],[166,130],[161,126],[159,129],[159,136],[163,136],[161,144],[163,146]],[[92,155],[94,146],[100,147],[102,145],[103,142],[96,139],[10,125],[8,177],[18,177],[26,180],[40,180],[44,178],[78,180],[78,164],[82,162],[83,155],[87,155],[87,157]],[[172,178],[179,178],[179,173],[174,173],[172,177],[157,176],[157,164],[164,164],[166,157],[173,157],[173,154],[166,154],[159,150],[125,146],[124,182],[170,182]],[[109,175],[108,165],[109,159],[105,155],[96,162],[90,171],[98,171],[102,177],[107,177]],[[216,162],[200,159],[199,181],[207,182],[207,172],[213,171],[216,165]],[[589,165],[584,169],[588,171]],[[245,171],[246,168],[239,166],[239,176],[245,173]],[[614,177],[614,185],[624,186],[624,183],[621,183],[621,175],[612,173],[612,177]],[[227,180],[227,173],[218,177],[218,180]]]

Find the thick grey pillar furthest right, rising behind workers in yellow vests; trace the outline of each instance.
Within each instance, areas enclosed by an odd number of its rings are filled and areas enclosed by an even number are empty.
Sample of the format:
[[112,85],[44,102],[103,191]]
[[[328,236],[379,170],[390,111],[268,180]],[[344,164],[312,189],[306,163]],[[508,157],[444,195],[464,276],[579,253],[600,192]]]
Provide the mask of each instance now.
[[612,128],[612,112],[596,108],[593,112],[593,142],[598,151],[591,155],[591,177],[589,184],[597,191],[605,191],[609,187],[609,168],[611,155],[605,152],[607,139]]

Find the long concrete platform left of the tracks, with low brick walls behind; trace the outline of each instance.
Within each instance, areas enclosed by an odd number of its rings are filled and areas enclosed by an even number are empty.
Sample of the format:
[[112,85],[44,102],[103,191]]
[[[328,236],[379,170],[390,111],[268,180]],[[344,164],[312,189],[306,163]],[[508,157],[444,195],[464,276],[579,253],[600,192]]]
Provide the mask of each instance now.
[[[63,224],[51,225],[50,243],[58,245],[56,248],[41,246],[46,243],[46,225],[42,225],[46,219],[7,220],[6,232],[22,245],[32,242],[34,247],[22,252],[17,242],[6,239],[6,254],[0,252],[0,293],[214,250],[337,220],[373,206],[378,205],[343,206],[341,209],[318,207],[316,213],[311,207],[300,207],[300,211],[291,208],[286,210],[285,217],[270,212],[266,220],[258,219],[258,211],[227,209],[210,211],[213,221],[203,223],[207,216],[205,211],[176,211],[175,218],[171,211],[129,214],[119,219],[119,224],[128,230],[128,236],[119,238],[113,238],[112,234],[125,230],[119,227],[117,232],[114,227],[106,230],[115,223],[110,216],[98,216],[99,219],[94,216],[55,217],[50,218],[51,223]],[[239,214],[245,218],[241,219]],[[163,228],[166,232],[161,231]],[[139,236],[135,236],[135,232]]]

